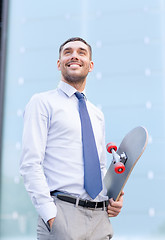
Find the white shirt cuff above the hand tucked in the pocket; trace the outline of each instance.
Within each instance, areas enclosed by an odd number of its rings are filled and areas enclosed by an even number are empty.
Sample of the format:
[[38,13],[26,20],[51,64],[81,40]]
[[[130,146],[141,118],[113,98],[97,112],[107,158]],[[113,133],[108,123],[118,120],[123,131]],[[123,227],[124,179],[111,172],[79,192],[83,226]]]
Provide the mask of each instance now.
[[56,217],[57,207],[54,202],[49,202],[38,206],[37,212],[44,222],[47,223],[49,219]]

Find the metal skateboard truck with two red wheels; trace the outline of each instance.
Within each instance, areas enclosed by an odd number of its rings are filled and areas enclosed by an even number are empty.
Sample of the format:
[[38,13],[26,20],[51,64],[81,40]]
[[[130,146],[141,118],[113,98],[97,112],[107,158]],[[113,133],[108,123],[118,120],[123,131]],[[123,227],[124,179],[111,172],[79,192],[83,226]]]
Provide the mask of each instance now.
[[121,174],[125,171],[125,163],[127,161],[127,156],[126,154],[123,152],[120,155],[117,154],[117,146],[110,142],[107,144],[106,146],[107,151],[109,153],[112,153],[113,156],[113,163],[114,163],[114,170],[117,174]]

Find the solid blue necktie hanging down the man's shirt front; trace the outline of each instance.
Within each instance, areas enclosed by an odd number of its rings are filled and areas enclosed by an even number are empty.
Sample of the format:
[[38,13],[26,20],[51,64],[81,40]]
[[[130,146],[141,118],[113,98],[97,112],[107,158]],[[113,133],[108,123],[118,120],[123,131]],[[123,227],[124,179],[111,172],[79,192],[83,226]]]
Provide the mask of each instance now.
[[75,95],[79,100],[79,114],[82,130],[84,188],[89,196],[95,199],[102,190],[100,161],[84,95],[80,92],[76,92]]

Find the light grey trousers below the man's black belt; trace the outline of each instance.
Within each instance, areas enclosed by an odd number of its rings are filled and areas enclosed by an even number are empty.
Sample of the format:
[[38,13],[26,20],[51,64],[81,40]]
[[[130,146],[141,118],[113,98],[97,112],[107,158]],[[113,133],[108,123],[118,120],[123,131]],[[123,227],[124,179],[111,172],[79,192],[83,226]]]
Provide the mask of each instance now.
[[106,209],[89,209],[59,200],[53,196],[57,216],[50,229],[38,217],[38,240],[108,240],[113,236]]

